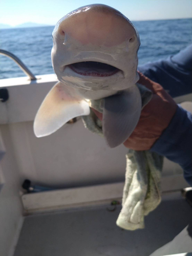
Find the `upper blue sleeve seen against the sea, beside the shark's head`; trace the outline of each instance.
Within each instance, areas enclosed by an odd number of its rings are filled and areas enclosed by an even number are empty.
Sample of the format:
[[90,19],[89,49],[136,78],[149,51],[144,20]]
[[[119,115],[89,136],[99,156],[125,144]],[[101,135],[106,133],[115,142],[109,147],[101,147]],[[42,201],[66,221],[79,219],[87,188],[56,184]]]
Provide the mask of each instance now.
[[192,93],[192,45],[165,60],[139,66],[138,70],[160,83],[173,98]]

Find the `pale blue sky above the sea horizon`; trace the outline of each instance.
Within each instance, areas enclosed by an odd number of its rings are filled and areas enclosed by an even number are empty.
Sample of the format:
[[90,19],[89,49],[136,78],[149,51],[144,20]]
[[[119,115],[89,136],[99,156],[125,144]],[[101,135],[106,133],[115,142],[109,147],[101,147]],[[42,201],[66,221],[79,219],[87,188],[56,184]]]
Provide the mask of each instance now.
[[95,3],[114,7],[130,20],[192,17],[191,0],[1,0],[0,23],[55,25],[68,12]]

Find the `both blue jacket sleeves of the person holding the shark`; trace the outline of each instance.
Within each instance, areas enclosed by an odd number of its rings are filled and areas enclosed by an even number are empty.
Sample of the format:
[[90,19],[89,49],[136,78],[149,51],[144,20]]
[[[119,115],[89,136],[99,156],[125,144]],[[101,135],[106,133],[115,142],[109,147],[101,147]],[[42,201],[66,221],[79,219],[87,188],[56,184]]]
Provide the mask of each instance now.
[[[192,93],[192,45],[165,60],[146,63],[138,70],[158,82],[170,96]],[[181,165],[184,178],[192,186],[192,115],[178,105],[167,129],[151,151]]]

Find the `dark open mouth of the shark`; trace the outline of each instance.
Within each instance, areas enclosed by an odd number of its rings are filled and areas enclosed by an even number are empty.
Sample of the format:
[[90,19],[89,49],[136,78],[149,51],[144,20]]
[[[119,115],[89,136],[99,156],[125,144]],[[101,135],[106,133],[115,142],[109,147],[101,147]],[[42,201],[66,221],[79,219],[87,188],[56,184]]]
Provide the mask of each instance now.
[[119,69],[111,65],[96,61],[77,62],[69,65],[68,67],[72,69],[75,73],[83,76],[105,77],[112,76],[120,71]]

